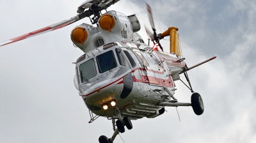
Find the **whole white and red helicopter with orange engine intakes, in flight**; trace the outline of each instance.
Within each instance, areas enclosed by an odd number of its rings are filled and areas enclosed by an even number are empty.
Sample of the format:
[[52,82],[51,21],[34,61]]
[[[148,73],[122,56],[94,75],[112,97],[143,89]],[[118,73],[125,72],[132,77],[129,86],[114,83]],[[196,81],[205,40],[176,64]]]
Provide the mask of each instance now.
[[[125,126],[132,129],[131,120],[160,116],[164,107],[192,106],[197,115],[202,114],[204,103],[200,94],[193,93],[191,103],[180,103],[174,96],[174,81],[181,80],[179,75],[184,74],[193,92],[187,72],[215,57],[188,68],[182,57],[177,27],[156,34],[152,11],[147,5],[153,33],[148,29],[147,32],[155,45],[150,47],[137,33],[140,22],[136,15],[127,17],[117,11],[101,13],[116,2],[85,1],[75,17],[4,41],[0,46],[89,17],[97,27],[81,24],[72,30],[70,38],[84,52],[75,63],[74,84],[90,111],[89,123],[99,116],[108,117],[113,123],[113,136],[110,139],[100,136],[99,142],[113,142],[119,132],[125,132]],[[158,50],[162,49],[159,41],[165,36],[170,36],[170,53]]]

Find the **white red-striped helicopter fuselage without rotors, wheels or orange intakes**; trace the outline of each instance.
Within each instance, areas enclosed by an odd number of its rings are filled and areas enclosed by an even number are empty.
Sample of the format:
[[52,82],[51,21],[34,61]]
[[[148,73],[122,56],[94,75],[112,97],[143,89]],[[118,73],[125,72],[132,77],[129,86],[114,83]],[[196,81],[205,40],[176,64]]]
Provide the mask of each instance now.
[[84,103],[94,114],[110,119],[117,117],[116,107],[130,119],[163,114],[159,103],[170,102],[175,91],[170,69],[182,72],[186,64],[177,62],[175,54],[146,45],[136,33],[140,23],[134,15],[129,18],[116,11],[106,14],[115,18],[111,32],[81,24],[77,27],[86,30],[88,37],[83,44],[73,40],[85,53],[77,59],[74,79]]

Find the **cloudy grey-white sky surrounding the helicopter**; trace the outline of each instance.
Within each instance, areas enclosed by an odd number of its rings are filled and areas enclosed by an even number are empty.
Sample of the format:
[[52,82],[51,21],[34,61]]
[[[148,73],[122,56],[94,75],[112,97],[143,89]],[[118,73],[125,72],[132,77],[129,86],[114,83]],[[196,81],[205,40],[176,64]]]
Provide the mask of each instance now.
[[[256,1],[146,1],[157,33],[179,27],[188,66],[216,59],[188,72],[205,111],[167,107],[154,119],[132,121],[120,133],[127,142],[255,142],[256,140]],[[74,1],[0,1],[0,41],[74,17]],[[121,0],[108,10],[136,14],[147,41],[145,1]],[[0,47],[0,142],[98,142],[111,137],[111,121],[88,123],[88,109],[73,79],[83,51],[72,45],[70,32],[83,19],[63,29]],[[168,38],[162,40],[168,51]],[[184,79],[184,77],[182,78]],[[175,97],[190,102],[191,93],[175,82]],[[115,142],[123,142],[118,135]]]

